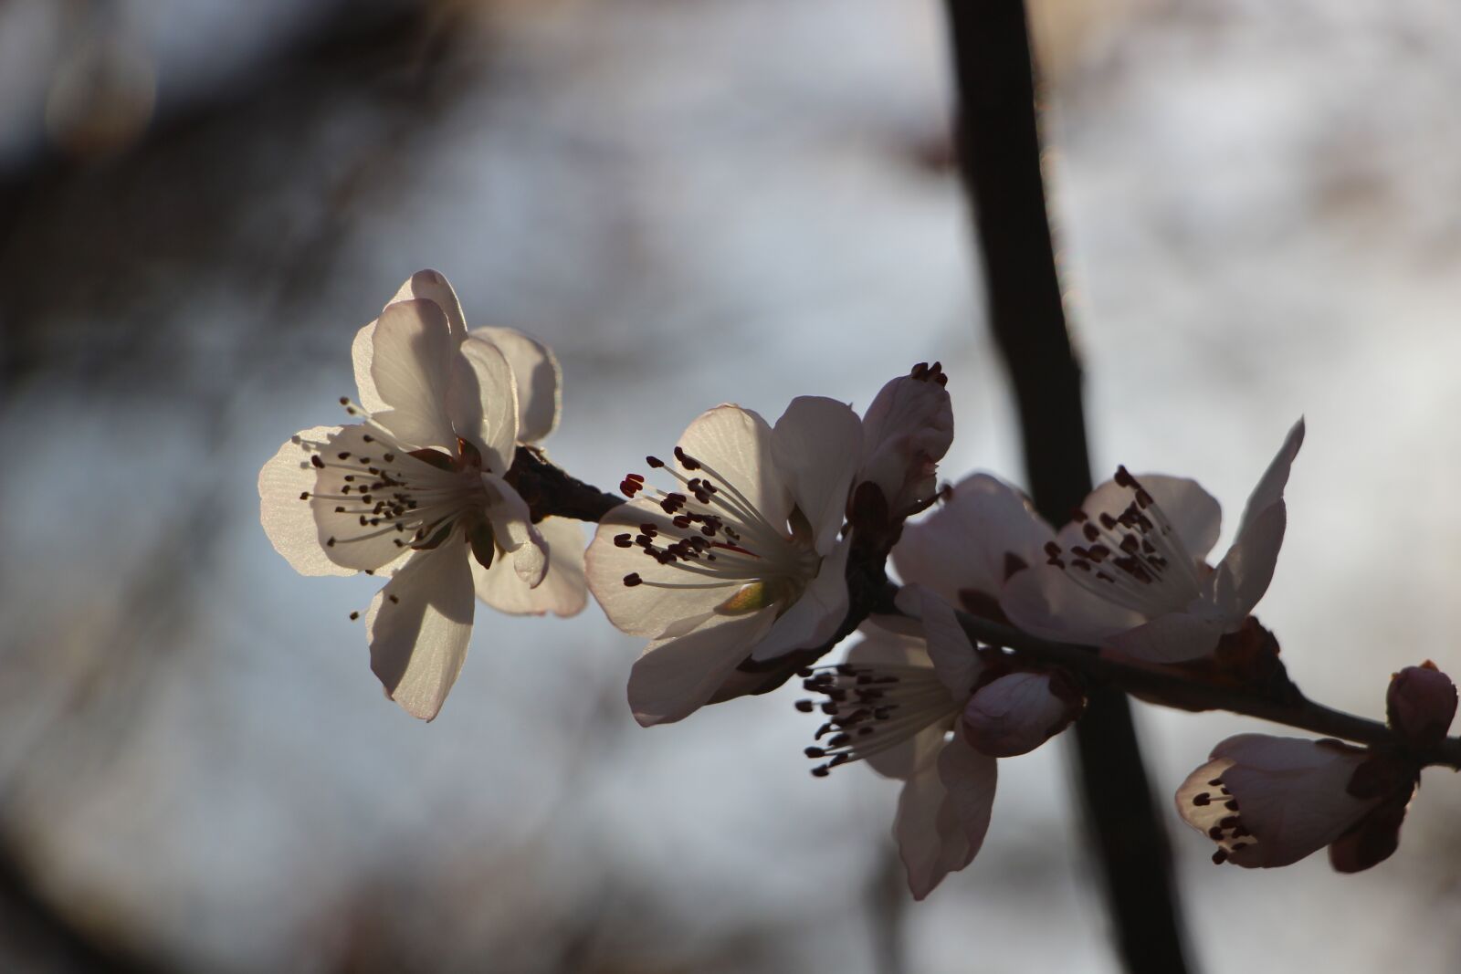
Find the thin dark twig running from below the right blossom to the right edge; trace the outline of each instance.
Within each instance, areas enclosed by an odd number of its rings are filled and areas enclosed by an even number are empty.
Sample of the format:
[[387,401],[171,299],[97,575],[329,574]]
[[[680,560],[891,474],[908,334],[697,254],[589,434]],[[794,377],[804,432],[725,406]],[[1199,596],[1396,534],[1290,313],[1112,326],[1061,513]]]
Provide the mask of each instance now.
[[[1150,702],[1179,710],[1226,710],[1365,745],[1401,743],[1384,723],[1325,707],[1302,694],[1290,691],[1280,698],[1258,689],[1216,685],[1173,667],[1105,657],[1093,645],[1050,643],[967,612],[957,615],[970,640],[1001,645],[1015,657],[1034,663],[1065,667],[1090,682],[1115,686]],[[1424,765],[1461,770],[1461,737],[1448,737],[1416,756]]]

